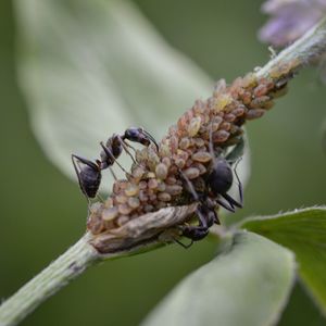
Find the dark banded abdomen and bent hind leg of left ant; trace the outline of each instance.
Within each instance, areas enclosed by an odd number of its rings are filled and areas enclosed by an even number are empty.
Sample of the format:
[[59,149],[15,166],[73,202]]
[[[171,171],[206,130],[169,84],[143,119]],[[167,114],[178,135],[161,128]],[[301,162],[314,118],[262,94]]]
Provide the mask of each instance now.
[[92,162],[75,154],[72,154],[72,161],[78,177],[80,190],[89,201],[89,198],[97,196],[100,187],[102,178],[101,162],[99,160]]

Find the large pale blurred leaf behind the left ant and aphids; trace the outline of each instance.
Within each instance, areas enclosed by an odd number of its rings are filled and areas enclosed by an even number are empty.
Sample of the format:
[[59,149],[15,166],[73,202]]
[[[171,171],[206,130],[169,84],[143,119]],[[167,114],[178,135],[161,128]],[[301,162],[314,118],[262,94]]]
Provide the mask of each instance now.
[[[16,0],[18,77],[35,135],[74,175],[71,153],[130,125],[165,134],[211,78],[172,49],[129,1]],[[75,177],[75,176],[74,176]]]

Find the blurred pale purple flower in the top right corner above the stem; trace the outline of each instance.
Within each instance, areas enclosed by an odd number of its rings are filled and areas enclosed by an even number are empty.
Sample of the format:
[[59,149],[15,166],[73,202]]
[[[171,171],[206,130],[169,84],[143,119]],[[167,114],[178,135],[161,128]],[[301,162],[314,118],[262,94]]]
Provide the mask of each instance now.
[[294,41],[326,14],[326,0],[267,0],[272,17],[259,33],[262,41],[281,48]]

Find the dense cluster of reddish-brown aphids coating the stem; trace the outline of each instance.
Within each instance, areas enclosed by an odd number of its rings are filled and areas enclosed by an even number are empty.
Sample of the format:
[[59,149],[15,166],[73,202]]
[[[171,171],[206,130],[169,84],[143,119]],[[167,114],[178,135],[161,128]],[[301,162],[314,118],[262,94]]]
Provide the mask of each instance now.
[[105,202],[90,209],[88,229],[93,235],[110,233],[146,213],[193,202],[180,172],[195,184],[202,181],[213,159],[210,141],[214,151],[239,142],[244,122],[269,110],[290,77],[291,70],[285,66],[268,78],[250,73],[229,86],[220,80],[212,97],[197,100],[168,129],[159,151],[151,145],[136,152],[137,163],[127,178],[116,180]]

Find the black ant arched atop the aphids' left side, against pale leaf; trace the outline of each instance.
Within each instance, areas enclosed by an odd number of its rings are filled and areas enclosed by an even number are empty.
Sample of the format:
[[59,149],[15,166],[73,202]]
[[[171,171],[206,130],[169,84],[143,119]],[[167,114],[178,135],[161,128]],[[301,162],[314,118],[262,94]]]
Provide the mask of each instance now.
[[[102,147],[102,151],[100,153],[101,160],[96,160],[95,162],[92,162],[87,159],[72,154],[72,161],[78,177],[80,190],[86,196],[88,201],[90,198],[95,198],[98,193],[102,178],[102,170],[105,170],[108,167],[111,170],[111,166],[114,164],[114,162],[116,162],[118,166],[125,173],[127,173],[123,168],[123,166],[116,161],[123,150],[125,150],[135,162],[133,155],[127,149],[127,147],[130,146],[127,145],[125,140],[139,142],[143,146],[150,146],[150,143],[154,143],[156,150],[159,151],[159,146],[155,139],[148,131],[146,131],[143,128],[130,127],[126,129],[124,135],[122,136],[113,134],[113,136],[108,139],[105,145],[102,141],[100,142]],[[80,166],[80,163],[83,164],[83,166]],[[115,177],[114,174],[113,176]]]

